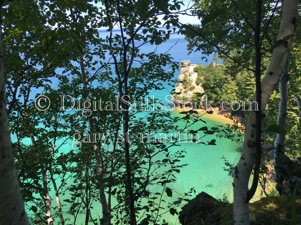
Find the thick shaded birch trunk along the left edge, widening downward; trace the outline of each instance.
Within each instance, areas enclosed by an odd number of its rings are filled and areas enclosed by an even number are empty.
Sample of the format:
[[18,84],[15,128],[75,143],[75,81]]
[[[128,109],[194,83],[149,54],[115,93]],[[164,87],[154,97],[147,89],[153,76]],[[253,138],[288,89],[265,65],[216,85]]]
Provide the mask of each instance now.
[[6,112],[1,30],[2,26],[0,26],[0,224],[29,225],[17,180],[14,149]]

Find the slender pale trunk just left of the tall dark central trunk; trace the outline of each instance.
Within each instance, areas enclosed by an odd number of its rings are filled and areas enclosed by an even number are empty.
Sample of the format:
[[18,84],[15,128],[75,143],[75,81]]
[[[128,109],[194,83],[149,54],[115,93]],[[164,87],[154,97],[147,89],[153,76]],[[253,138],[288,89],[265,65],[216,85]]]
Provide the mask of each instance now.
[[[85,68],[84,68],[84,61],[83,61],[83,53],[82,53],[82,47],[80,47],[80,46],[79,46],[79,63],[80,63],[80,68],[81,68],[81,73],[82,73],[82,84],[84,86],[84,89],[87,90]],[[88,99],[88,97],[87,97],[87,99]],[[90,107],[89,107],[89,109],[90,109]],[[94,129],[94,124],[93,124],[92,114],[88,117],[88,119],[89,119],[89,128],[90,128],[91,137],[93,137],[93,134],[95,134],[95,129]],[[97,164],[99,196],[100,196],[100,201],[101,201],[101,206],[102,206],[102,215],[103,215],[103,219],[104,219],[104,224],[108,225],[108,224],[110,224],[110,219],[111,218],[110,218],[110,215],[109,215],[107,199],[106,199],[105,192],[104,192],[103,162],[101,161],[100,150],[98,149],[98,146],[96,144],[93,144],[93,150],[94,150],[94,153],[95,153],[95,159],[96,159],[96,164]]]

